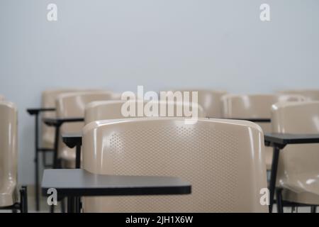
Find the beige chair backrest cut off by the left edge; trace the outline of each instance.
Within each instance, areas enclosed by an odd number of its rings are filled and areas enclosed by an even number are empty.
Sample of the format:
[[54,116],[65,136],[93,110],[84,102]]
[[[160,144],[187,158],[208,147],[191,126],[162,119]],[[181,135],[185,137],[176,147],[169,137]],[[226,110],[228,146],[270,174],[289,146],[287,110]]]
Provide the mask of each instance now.
[[11,206],[16,199],[17,121],[16,106],[0,101],[0,206]]

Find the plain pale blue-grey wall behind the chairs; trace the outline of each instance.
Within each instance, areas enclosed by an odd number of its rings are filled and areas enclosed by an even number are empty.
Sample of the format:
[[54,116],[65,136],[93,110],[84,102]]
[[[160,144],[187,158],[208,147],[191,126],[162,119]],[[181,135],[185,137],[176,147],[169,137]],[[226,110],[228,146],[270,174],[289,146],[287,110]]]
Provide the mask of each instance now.
[[316,0],[0,0],[0,94],[19,109],[21,183],[33,182],[26,108],[44,89],[318,88],[318,23]]

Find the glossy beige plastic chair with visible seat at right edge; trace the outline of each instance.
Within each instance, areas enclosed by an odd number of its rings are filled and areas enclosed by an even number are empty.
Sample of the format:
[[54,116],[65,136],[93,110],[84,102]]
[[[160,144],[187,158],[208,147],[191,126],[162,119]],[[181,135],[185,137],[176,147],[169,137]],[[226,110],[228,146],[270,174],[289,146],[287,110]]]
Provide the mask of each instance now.
[[[281,102],[272,106],[274,133],[319,133],[319,101]],[[319,145],[286,145],[280,151],[277,187],[283,199],[319,204]]]

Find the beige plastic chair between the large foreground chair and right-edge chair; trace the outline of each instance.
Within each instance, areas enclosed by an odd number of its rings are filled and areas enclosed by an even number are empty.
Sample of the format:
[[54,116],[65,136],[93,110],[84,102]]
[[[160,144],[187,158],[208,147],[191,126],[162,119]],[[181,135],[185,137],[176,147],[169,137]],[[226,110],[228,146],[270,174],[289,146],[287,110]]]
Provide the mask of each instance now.
[[[272,104],[278,101],[305,101],[301,95],[278,95],[278,94],[227,94],[223,96],[224,118],[268,118],[271,117]],[[271,123],[256,122],[264,131],[271,132]],[[272,168],[272,153],[270,147],[265,148],[267,170]]]

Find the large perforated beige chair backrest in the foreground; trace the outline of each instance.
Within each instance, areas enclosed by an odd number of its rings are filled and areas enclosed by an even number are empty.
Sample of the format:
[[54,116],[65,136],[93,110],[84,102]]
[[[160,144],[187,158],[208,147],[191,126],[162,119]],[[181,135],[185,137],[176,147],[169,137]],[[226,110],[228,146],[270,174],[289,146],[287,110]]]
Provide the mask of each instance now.
[[127,118],[83,128],[83,168],[101,175],[162,175],[191,183],[190,195],[84,198],[84,211],[267,212],[262,130],[249,121]]

